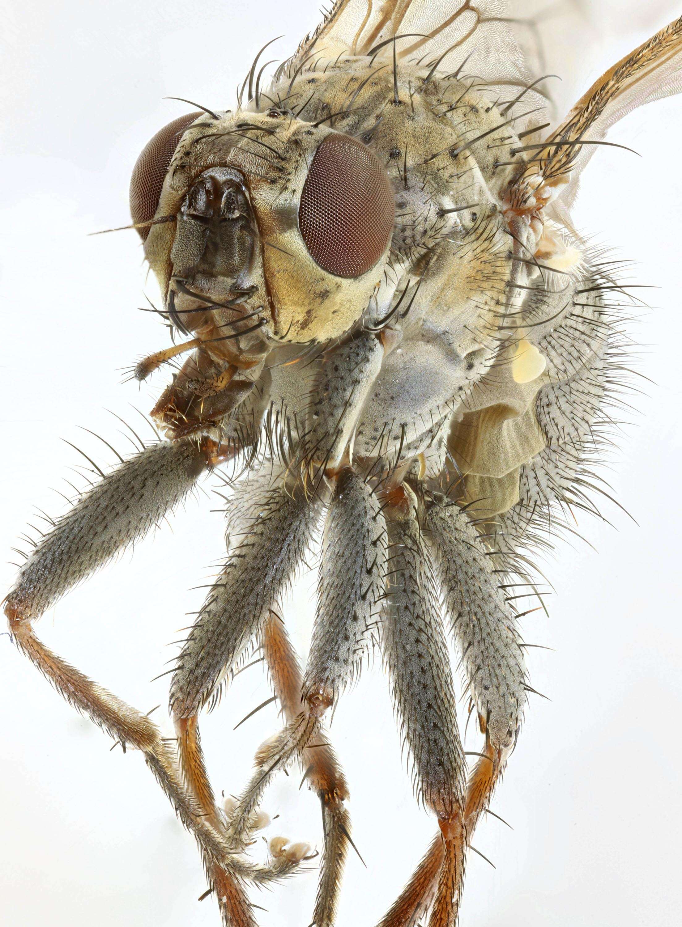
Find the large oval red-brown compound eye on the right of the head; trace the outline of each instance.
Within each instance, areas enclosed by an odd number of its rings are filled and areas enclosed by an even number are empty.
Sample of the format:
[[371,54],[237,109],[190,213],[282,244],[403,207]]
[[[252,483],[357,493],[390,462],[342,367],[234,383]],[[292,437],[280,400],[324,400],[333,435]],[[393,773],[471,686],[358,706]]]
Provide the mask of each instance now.
[[310,256],[337,277],[359,277],[391,241],[395,204],[380,159],[351,135],[328,135],[315,151],[299,206]]

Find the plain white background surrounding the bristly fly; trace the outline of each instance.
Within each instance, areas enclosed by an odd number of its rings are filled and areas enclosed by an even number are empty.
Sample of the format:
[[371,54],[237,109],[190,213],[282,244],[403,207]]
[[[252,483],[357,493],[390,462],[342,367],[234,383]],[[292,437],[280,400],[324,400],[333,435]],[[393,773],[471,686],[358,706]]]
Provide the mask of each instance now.
[[[583,4],[583,6],[590,6]],[[581,91],[676,13],[676,4],[593,5],[602,41],[585,51]],[[663,6],[665,9],[663,9]],[[677,10],[680,12],[680,10]],[[139,150],[187,105],[232,105],[235,86],[264,42],[285,34],[290,54],[315,25],[315,0],[163,0],[115,4],[9,0],[0,37],[0,548],[16,543],[33,506],[61,511],[51,487],[78,463],[60,438],[110,462],[78,426],[122,450],[104,409],[148,428],[162,375],[121,385],[122,368],[165,346],[150,313],[136,311],[145,269],[134,232],[86,237],[122,225]],[[581,51],[581,57],[582,51]],[[576,95],[577,96],[577,95]],[[514,827],[483,823],[468,865],[461,923],[477,927],[642,927],[682,921],[679,887],[680,762],[680,212],[682,100],[643,108],[611,133],[642,158],[600,149],[585,172],[575,220],[637,260],[652,305],[633,326],[643,392],[635,427],[618,438],[609,478],[637,519],[606,503],[614,527],[581,518],[589,544],[561,544],[547,565],[551,617],[524,622],[534,650],[532,698],[516,754],[493,808]],[[153,288],[148,285],[148,292]],[[150,432],[148,433],[150,435]],[[128,450],[130,450],[128,448]],[[122,557],[40,622],[39,633],[76,666],[164,724],[168,678],[150,683],[174,654],[167,646],[196,610],[223,552],[211,483],[135,559]],[[68,491],[68,488],[67,488]],[[21,546],[19,544],[19,546]],[[5,555],[3,554],[3,560]],[[0,567],[6,590],[14,567]],[[287,620],[304,653],[314,577],[302,579]],[[0,592],[0,595],[2,592]],[[108,738],[76,715],[0,637],[0,922],[51,927],[97,923],[217,925],[191,838],[140,756],[109,752]],[[269,695],[260,667],[240,675],[202,723],[218,789],[236,792],[255,746],[277,728],[274,705],[233,732]],[[471,726],[472,728],[473,726]],[[380,666],[338,709],[332,728],[351,783],[354,839],[340,924],[376,923],[434,833],[414,803]],[[467,749],[480,749],[469,732]],[[313,794],[294,771],[267,795],[279,813],[268,835],[321,839]],[[315,873],[255,900],[265,925],[310,921]]]

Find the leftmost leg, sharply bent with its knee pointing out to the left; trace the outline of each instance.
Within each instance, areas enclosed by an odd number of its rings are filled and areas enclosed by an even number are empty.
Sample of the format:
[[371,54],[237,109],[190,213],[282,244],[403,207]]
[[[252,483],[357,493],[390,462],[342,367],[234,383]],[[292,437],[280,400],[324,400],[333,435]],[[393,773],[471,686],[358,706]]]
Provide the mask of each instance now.
[[174,756],[161,741],[156,725],[49,651],[32,629],[32,621],[61,595],[157,524],[187,495],[205,467],[206,457],[195,445],[165,443],[122,464],[59,519],[32,552],[6,598],[5,612],[19,649],[71,705],[123,747],[130,745],[143,752],[179,818],[204,852],[222,859],[225,843],[187,797]]

